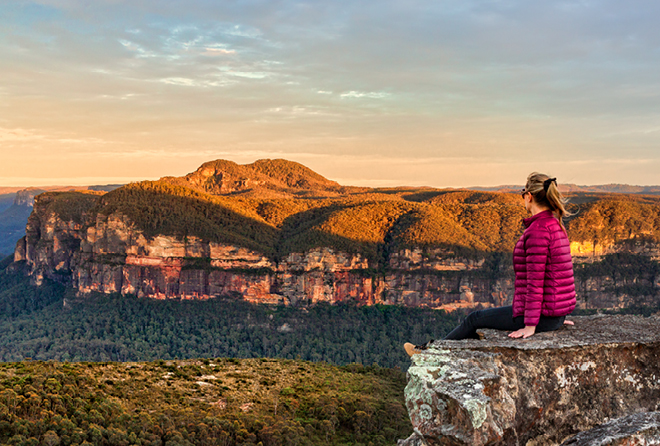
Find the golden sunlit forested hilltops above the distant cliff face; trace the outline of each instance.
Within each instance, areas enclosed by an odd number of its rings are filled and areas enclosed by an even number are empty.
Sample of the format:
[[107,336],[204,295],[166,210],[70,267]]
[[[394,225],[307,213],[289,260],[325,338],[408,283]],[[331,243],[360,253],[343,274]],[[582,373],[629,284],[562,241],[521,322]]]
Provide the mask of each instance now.
[[[658,196],[569,198],[572,241],[660,241]],[[373,261],[385,250],[410,247],[509,252],[525,216],[518,193],[344,187],[285,160],[218,160],[185,177],[132,183],[105,195],[47,193],[42,202],[83,226],[94,224],[97,214],[119,212],[152,237],[196,236],[271,257],[329,246]]]

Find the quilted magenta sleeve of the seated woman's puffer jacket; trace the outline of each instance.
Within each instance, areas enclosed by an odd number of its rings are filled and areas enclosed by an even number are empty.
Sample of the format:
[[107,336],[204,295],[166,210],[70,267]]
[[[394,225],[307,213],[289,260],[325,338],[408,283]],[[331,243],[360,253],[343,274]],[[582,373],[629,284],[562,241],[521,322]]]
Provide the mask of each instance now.
[[530,231],[525,240],[525,263],[527,266],[525,325],[536,326],[541,317],[544,278],[549,250],[550,232],[547,228],[534,228]]

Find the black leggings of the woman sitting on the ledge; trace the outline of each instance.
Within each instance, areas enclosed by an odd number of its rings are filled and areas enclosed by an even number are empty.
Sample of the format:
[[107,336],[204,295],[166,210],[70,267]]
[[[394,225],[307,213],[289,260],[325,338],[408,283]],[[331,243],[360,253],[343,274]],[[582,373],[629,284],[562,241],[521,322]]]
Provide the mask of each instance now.
[[[558,330],[564,324],[564,319],[566,319],[566,316],[541,316],[539,324],[536,326],[536,333]],[[525,317],[513,317],[513,306],[511,305],[473,311],[445,339],[479,339],[477,336],[477,329],[479,328],[516,331],[525,328]]]

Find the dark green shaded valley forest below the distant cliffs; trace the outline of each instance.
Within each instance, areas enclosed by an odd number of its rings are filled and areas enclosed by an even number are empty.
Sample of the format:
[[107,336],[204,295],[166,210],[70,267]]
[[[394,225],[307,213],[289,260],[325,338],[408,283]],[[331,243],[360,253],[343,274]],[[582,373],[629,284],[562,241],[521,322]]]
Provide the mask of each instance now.
[[396,306],[255,305],[241,299],[77,299],[0,265],[0,361],[150,361],[273,357],[406,369],[401,346],[437,339],[458,314]]

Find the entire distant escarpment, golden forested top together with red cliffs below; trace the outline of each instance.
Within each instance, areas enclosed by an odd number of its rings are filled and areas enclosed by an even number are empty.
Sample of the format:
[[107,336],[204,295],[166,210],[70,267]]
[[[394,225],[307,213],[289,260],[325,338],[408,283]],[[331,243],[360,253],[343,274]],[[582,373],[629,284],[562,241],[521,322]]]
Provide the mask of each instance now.
[[[660,198],[572,200],[581,308],[657,305]],[[345,187],[285,160],[219,160],[39,195],[15,261],[81,295],[488,307],[511,300],[524,216],[518,194]]]

